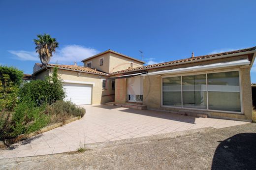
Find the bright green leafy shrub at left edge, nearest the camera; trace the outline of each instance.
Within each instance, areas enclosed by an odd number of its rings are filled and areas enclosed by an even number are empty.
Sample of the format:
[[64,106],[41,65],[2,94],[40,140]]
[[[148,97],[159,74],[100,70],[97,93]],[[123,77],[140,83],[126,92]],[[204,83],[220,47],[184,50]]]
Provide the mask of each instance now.
[[14,112],[0,113],[0,140],[29,134],[45,127],[50,118],[44,110],[44,105],[36,107],[34,102],[27,99],[19,103]]

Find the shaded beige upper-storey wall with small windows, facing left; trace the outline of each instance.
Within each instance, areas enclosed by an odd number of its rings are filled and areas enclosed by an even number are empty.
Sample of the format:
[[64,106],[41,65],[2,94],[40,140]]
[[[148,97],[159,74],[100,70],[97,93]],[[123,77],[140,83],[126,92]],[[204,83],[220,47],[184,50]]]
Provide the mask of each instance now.
[[[100,58],[103,58],[103,65],[101,65],[101,66],[99,65]],[[109,73],[109,53],[106,53],[102,56],[92,58],[88,61],[84,61],[84,66],[86,67],[86,63],[91,62],[91,61],[92,61],[92,68],[96,68],[99,71]]]

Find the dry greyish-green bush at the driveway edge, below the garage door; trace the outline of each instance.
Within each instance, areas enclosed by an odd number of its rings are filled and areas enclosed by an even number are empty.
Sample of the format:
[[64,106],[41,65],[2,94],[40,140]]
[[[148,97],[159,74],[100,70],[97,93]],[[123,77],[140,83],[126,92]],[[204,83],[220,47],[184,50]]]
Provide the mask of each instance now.
[[52,105],[47,105],[45,113],[50,115],[51,123],[64,122],[68,118],[81,116],[85,114],[84,108],[79,108],[70,101],[59,100]]

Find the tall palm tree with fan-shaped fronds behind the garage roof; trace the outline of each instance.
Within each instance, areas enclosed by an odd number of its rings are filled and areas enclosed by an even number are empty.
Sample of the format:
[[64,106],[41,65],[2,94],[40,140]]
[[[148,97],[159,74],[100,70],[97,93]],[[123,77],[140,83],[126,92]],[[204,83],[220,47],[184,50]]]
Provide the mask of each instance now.
[[46,33],[36,36],[38,38],[34,39],[36,53],[38,53],[41,63],[47,65],[53,56],[52,53],[59,47],[59,43],[56,41],[56,38],[51,38],[51,36]]

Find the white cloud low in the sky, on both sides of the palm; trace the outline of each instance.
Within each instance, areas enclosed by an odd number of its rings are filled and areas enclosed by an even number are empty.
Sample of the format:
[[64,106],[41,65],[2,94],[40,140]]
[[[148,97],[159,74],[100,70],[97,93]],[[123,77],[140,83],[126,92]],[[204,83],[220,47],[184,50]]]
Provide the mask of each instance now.
[[[19,60],[31,60],[31,61],[40,61],[38,54],[35,52],[29,51],[8,51],[11,54],[15,55],[16,59]],[[60,64],[72,64],[75,61],[80,62],[81,60],[91,57],[99,53],[96,49],[87,48],[80,45],[67,45],[63,48],[56,49],[56,53],[53,54],[51,58],[51,63],[60,63]]]

